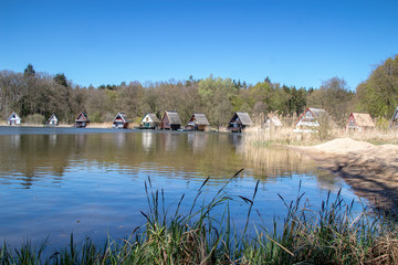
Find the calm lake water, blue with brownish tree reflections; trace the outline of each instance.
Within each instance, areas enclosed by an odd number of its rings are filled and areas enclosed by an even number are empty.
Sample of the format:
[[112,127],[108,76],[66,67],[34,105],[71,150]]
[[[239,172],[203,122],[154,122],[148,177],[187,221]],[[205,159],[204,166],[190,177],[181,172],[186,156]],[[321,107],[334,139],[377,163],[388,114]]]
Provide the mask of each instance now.
[[[40,243],[49,236],[60,246],[72,232],[97,241],[124,237],[145,222],[139,211],[148,210],[148,177],[154,189],[165,189],[172,209],[182,194],[192,200],[207,177],[205,197],[210,198],[244,168],[227,192],[251,198],[260,180],[254,208],[266,224],[285,213],[277,193],[293,200],[300,182],[315,205],[328,190],[342,188],[347,200],[356,198],[344,181],[307,158],[285,149],[247,147],[243,137],[0,127],[0,241],[19,246],[23,240]],[[231,209],[239,229],[248,208],[238,202]],[[252,220],[259,222],[255,215]]]

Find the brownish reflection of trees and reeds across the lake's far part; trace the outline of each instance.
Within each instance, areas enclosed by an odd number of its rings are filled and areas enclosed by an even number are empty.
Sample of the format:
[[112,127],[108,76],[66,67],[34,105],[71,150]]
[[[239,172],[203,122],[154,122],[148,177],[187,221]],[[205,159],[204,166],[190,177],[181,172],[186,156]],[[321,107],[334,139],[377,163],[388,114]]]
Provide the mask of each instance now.
[[149,131],[0,136],[0,180],[18,174],[20,184],[27,188],[41,178],[55,178],[60,183],[65,169],[76,165],[88,167],[90,162],[100,168],[136,172],[181,171],[196,178],[228,178],[241,168],[247,169],[245,174],[262,180],[316,170],[307,157],[289,149],[243,145],[242,137]]

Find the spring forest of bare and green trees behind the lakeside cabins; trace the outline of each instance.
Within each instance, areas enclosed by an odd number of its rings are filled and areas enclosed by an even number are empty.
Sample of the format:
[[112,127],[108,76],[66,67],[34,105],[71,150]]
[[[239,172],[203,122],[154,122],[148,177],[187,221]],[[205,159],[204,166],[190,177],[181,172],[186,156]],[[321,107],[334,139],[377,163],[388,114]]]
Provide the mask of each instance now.
[[145,114],[177,110],[182,123],[192,113],[205,113],[213,127],[226,125],[234,112],[247,112],[261,124],[268,113],[297,116],[305,107],[324,108],[336,125],[343,126],[352,112],[369,113],[389,119],[398,106],[398,55],[377,65],[355,91],[344,78],[331,77],[317,88],[274,83],[270,77],[256,84],[210,75],[196,80],[167,82],[122,82],[98,87],[80,86],[63,73],[0,72],[0,119],[15,112],[24,123],[44,123],[52,114],[72,124],[86,112],[93,123],[112,121],[118,112],[138,123]]

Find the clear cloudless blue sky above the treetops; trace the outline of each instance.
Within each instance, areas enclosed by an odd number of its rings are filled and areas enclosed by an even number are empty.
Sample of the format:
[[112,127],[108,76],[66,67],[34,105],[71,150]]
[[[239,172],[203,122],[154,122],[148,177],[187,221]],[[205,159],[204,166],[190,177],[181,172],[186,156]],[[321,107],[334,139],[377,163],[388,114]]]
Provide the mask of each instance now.
[[398,1],[0,1],[0,70],[74,84],[222,78],[349,88],[398,53]]

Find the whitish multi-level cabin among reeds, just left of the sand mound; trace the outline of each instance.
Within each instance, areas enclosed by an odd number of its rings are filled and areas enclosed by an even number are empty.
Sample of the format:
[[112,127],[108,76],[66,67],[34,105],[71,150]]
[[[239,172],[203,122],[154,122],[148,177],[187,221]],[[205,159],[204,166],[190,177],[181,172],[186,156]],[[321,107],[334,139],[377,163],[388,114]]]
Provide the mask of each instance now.
[[323,108],[307,107],[295,123],[295,132],[313,132],[320,126],[320,119],[326,117],[327,113]]

